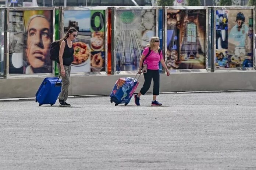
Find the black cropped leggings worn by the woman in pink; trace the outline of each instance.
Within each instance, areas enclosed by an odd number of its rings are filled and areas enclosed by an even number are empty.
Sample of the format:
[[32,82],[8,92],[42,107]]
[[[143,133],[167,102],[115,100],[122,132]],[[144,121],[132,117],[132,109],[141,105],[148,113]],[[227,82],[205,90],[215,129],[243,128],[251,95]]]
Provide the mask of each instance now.
[[141,88],[141,94],[145,95],[147,90],[149,90],[150,85],[151,85],[151,80],[153,78],[154,86],[153,86],[153,95],[159,95],[159,70],[149,70],[147,69],[147,73],[143,73],[144,75],[144,84]]

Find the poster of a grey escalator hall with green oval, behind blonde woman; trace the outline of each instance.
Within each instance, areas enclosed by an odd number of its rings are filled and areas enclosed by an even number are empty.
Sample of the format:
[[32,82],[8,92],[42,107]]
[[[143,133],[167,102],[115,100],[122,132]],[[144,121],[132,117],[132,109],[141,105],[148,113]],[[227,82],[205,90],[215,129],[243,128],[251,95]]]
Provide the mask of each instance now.
[[156,10],[117,10],[116,71],[138,70],[143,49],[156,36]]

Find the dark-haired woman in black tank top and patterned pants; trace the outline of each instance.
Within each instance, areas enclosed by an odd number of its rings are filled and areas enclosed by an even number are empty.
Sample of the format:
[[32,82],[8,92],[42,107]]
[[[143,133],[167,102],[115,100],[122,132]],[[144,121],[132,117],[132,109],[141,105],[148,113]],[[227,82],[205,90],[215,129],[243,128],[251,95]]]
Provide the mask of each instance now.
[[72,40],[77,36],[77,30],[70,27],[64,38],[60,40],[60,53],[58,70],[62,78],[61,92],[59,95],[60,106],[71,106],[66,102],[68,98],[68,86],[70,85],[71,63],[74,60],[74,48]]

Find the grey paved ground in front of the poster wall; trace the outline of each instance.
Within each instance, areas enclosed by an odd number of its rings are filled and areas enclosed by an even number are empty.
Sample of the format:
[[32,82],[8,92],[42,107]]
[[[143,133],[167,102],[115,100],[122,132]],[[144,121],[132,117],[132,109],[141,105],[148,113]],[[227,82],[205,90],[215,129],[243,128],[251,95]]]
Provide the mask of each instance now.
[[165,93],[161,107],[151,98],[0,101],[0,169],[256,169],[256,92]]

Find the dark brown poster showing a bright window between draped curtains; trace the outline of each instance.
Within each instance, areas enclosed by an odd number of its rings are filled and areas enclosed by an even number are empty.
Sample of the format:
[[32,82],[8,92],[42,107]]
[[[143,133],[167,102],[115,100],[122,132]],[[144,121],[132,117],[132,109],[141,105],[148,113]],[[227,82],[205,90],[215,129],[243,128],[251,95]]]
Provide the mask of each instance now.
[[205,38],[205,10],[167,10],[168,69],[205,69]]

